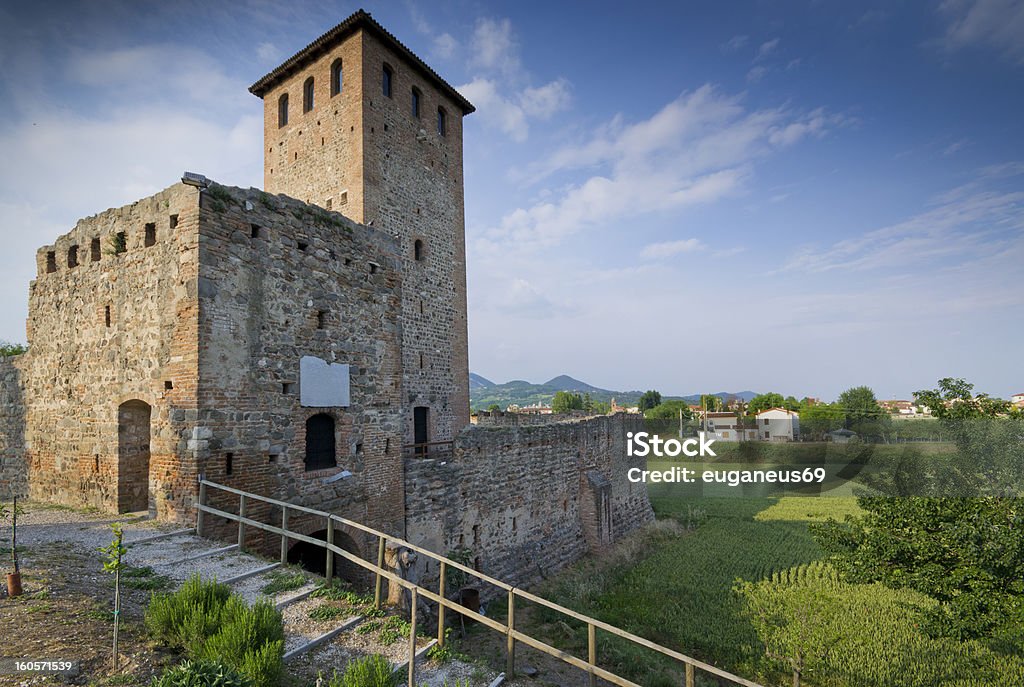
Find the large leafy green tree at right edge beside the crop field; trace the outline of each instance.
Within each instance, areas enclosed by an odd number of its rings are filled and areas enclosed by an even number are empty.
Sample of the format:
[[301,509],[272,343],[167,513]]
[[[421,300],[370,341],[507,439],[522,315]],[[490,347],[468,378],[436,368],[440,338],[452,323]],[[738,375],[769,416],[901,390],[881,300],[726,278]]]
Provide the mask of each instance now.
[[863,516],[812,525],[848,579],[933,597],[930,630],[959,639],[1024,627],[1024,422],[996,418],[1002,404],[972,389],[947,378],[914,394],[955,438],[956,453],[919,462],[911,480],[903,471],[903,483],[918,493],[982,496],[862,497]]

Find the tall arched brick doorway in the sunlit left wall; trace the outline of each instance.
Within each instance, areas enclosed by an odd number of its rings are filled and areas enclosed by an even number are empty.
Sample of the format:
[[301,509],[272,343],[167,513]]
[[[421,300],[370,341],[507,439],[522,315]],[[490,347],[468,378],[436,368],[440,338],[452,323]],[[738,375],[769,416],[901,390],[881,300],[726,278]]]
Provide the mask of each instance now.
[[141,400],[118,407],[118,512],[150,510],[150,421],[153,409]]

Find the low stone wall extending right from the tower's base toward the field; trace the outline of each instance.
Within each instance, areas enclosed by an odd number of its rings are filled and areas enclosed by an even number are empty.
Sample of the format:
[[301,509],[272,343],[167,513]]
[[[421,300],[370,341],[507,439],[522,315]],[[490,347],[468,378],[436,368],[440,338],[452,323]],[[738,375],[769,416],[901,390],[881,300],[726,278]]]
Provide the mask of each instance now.
[[626,478],[643,464],[625,444],[640,422],[467,429],[452,460],[408,462],[407,538],[442,554],[466,548],[479,570],[528,586],[653,519],[643,485]]

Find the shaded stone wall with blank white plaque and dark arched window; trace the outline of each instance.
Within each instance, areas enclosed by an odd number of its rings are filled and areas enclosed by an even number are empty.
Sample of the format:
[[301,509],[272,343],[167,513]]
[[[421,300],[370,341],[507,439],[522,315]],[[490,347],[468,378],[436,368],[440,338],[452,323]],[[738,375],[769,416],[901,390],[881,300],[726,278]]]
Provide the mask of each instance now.
[[[380,231],[284,196],[204,192],[200,414],[185,448],[209,479],[402,531],[395,251]],[[302,356],[350,366],[348,406],[301,404]],[[318,414],[334,420],[337,465],[310,471],[306,421]],[[325,481],[343,470],[354,476]]]

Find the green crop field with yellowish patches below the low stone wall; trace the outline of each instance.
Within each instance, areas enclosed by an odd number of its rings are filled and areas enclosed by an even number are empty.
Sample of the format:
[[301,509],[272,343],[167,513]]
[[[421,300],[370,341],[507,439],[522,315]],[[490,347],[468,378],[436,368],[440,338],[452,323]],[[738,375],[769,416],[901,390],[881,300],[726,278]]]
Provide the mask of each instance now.
[[[835,641],[820,651],[805,685],[968,687],[1024,684],[1021,647],[932,639],[919,629],[934,602],[880,585],[849,585],[821,562],[808,523],[843,520],[859,509],[844,498],[681,498],[651,490],[662,526],[610,563],[585,562],[549,582],[543,593],[583,612],[766,685],[792,684],[784,660],[766,656],[748,600],[736,589],[781,592],[780,621],[802,617],[801,599],[823,604],[805,613]],[[667,527],[667,522],[680,527]],[[543,618],[543,614],[542,614]],[[543,629],[543,628],[542,628]],[[582,634],[547,628],[579,650]],[[681,684],[680,671],[650,652],[599,638],[599,657],[644,685]],[[707,683],[715,684],[715,683]]]

